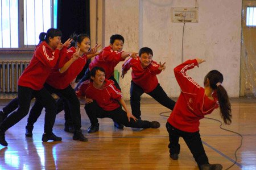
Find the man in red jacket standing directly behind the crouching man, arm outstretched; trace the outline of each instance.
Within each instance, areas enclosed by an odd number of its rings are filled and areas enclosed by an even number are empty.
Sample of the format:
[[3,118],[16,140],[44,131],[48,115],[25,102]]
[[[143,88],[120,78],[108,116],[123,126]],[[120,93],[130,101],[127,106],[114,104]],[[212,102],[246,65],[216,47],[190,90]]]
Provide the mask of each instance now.
[[[136,57],[135,52],[124,52],[123,43],[125,43],[125,39],[122,35],[112,35],[110,37],[110,44],[108,47],[103,49],[103,52],[96,56],[95,59],[89,64],[89,68],[85,72],[84,77],[81,78],[79,84],[77,84],[76,88],[80,85],[81,82],[90,79],[90,70],[93,67],[101,67],[106,72],[106,79],[113,80],[114,85],[121,91],[120,86],[118,85],[117,80],[114,78],[114,68],[120,61],[125,61],[127,57]],[[75,90],[76,90],[75,88]],[[122,129],[123,125],[114,122],[114,126]]]

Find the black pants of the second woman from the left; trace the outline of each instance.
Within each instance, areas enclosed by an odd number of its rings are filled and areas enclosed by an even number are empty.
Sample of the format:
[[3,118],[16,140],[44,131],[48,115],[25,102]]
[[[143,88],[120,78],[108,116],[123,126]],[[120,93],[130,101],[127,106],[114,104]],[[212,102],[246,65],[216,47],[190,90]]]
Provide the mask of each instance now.
[[[72,118],[73,126],[75,130],[81,129],[81,114],[80,114],[80,102],[76,96],[75,91],[72,89],[71,85],[67,88],[60,90],[55,89],[48,84],[44,84],[49,93],[55,93],[57,96],[64,98],[68,102],[69,110],[71,111],[70,115]],[[41,101],[36,99],[34,106],[30,110],[30,115],[27,119],[28,125],[34,125],[34,123],[39,118],[43,110],[43,105]],[[56,113],[55,113],[56,114]]]

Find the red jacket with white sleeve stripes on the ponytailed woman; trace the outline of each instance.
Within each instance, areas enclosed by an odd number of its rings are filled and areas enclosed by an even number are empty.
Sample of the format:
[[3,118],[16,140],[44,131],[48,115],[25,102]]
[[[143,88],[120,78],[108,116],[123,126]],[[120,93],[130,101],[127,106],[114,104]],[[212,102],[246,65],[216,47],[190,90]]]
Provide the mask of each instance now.
[[199,120],[203,119],[204,115],[210,114],[214,109],[218,108],[216,90],[212,94],[214,100],[209,99],[205,95],[204,88],[185,74],[188,69],[192,69],[196,65],[196,59],[188,60],[174,69],[181,93],[174,110],[168,118],[168,122],[177,129],[186,132],[199,131]]

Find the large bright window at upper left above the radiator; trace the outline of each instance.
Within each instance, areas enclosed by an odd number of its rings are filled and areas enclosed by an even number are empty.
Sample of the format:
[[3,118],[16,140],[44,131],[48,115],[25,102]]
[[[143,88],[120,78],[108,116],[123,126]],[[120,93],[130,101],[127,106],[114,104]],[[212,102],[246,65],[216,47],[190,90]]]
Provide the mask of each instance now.
[[28,49],[56,28],[57,0],[1,0],[0,49]]

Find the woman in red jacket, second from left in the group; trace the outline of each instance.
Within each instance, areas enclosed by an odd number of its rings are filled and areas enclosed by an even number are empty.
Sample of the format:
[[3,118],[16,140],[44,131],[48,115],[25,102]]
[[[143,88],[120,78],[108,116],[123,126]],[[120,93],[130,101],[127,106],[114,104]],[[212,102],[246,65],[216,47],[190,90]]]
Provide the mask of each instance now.
[[[87,60],[98,55],[98,53],[89,56],[86,55],[90,49],[90,39],[88,35],[76,35],[73,39],[76,41],[77,47],[71,47],[61,51],[61,60],[59,60],[56,66],[52,69],[44,86],[50,93],[55,93],[57,96],[62,97],[67,101],[74,129],[73,139],[86,142],[88,139],[85,138],[81,132],[80,102],[76,97],[75,91],[71,87],[71,82],[82,71]],[[33,125],[39,118],[42,109],[42,103],[36,99],[28,117],[26,136],[32,136]],[[70,117],[70,115],[65,115],[65,118],[68,116]]]

